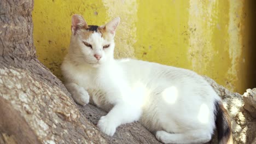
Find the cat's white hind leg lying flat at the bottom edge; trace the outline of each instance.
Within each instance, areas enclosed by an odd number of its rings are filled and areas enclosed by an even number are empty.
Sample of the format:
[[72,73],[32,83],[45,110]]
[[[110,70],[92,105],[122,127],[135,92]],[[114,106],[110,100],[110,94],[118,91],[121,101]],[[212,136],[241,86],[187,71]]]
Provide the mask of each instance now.
[[162,143],[206,143],[212,134],[205,130],[191,130],[182,134],[171,134],[166,131],[156,131],[156,139]]

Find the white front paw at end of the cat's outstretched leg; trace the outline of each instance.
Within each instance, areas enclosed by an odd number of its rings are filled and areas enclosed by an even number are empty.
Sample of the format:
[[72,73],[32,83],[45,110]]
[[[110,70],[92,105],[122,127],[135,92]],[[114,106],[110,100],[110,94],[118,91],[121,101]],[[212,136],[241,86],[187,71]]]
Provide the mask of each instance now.
[[113,121],[110,121],[106,116],[102,116],[98,121],[97,127],[106,135],[113,136],[117,126]]

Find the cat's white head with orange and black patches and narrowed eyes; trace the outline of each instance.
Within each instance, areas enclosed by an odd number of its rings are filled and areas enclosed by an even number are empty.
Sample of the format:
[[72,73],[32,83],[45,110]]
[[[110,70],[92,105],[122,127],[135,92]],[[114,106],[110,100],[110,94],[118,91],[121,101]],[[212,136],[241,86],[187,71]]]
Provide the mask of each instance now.
[[69,56],[78,63],[94,67],[107,63],[114,58],[115,30],[120,22],[116,17],[106,25],[87,25],[83,16],[73,15],[72,35]]

